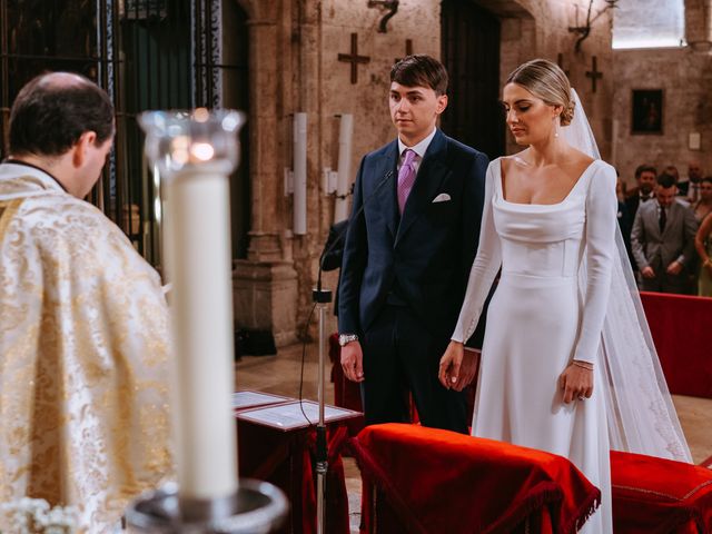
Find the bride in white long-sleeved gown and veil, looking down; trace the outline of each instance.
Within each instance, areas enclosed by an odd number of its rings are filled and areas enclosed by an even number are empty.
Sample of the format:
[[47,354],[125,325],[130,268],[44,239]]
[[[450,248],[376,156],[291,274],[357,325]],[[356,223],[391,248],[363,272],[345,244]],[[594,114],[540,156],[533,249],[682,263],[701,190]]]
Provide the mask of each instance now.
[[439,379],[459,389],[463,343],[487,312],[473,435],[568,457],[601,490],[581,532],[612,533],[611,448],[690,462],[616,224],[616,172],[551,61],[510,75],[521,152],[487,169],[479,249]]

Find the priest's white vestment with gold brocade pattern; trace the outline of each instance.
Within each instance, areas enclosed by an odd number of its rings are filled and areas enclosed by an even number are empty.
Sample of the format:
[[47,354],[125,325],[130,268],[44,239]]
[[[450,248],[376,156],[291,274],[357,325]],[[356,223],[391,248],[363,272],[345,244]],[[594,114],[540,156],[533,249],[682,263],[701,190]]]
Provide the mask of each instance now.
[[171,474],[168,328],[158,274],[113,222],[0,165],[0,502],[73,505],[105,533]]

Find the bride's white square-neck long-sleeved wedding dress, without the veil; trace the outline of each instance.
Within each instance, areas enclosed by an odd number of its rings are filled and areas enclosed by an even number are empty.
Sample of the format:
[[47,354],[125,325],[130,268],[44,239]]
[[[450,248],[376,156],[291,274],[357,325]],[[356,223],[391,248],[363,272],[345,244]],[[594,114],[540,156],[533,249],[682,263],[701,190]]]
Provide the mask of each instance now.
[[[487,312],[473,435],[570,458],[601,490],[599,511],[581,532],[610,534],[611,479],[605,387],[597,360],[616,254],[616,174],[594,160],[564,200],[510,202],[501,159],[487,169],[477,258],[453,339]],[[578,279],[586,265],[586,285]],[[590,399],[563,403],[558,377],[572,359],[594,364]]]

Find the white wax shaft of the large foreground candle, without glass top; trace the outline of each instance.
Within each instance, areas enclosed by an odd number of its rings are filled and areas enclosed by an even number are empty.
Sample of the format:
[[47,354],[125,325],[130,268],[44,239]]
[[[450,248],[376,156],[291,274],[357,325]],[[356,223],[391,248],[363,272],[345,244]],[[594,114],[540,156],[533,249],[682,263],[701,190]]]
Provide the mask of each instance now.
[[181,498],[237,490],[229,198],[227,176],[198,167],[167,191]]

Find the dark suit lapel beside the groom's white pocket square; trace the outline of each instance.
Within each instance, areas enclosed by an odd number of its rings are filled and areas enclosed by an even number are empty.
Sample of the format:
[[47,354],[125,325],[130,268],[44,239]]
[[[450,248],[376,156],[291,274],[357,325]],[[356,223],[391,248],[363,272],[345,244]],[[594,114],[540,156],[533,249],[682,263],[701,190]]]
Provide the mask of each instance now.
[[449,167],[445,162],[446,156],[447,139],[441,130],[437,130],[425,152],[423,161],[421,161],[413,190],[405,204],[405,210],[398,225],[395,246],[398,246],[398,243],[413,226],[413,222],[425,212],[431,201],[433,201],[435,192],[441,188],[443,180],[448,175]]

